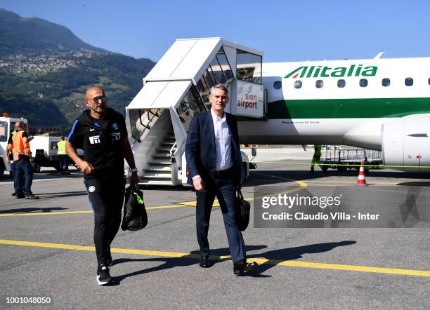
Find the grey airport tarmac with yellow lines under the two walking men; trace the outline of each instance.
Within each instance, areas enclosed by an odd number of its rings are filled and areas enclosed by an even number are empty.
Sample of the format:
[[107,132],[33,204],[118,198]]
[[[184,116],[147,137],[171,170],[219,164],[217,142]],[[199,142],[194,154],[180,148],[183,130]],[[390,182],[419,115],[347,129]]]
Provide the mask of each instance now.
[[[249,150],[247,150],[249,151]],[[290,195],[339,195],[351,208],[408,210],[403,227],[255,228],[243,233],[250,262],[233,275],[221,210],[209,229],[209,269],[198,266],[195,192],[144,187],[148,227],[119,230],[112,243],[115,284],[96,284],[93,217],[82,175],[44,170],[35,176],[38,201],[11,196],[0,177],[0,307],[27,309],[428,309],[430,304],[430,182],[428,174],[370,170],[366,187],[356,171],[310,174],[299,149],[259,149],[242,192],[256,204],[259,186]],[[376,211],[375,211],[376,212]],[[327,223],[325,223],[327,224]],[[330,226],[331,225],[331,226]],[[49,304],[25,298],[49,297]],[[11,304],[11,300],[19,303]],[[27,300],[27,303],[25,301]],[[9,303],[8,303],[9,302]]]

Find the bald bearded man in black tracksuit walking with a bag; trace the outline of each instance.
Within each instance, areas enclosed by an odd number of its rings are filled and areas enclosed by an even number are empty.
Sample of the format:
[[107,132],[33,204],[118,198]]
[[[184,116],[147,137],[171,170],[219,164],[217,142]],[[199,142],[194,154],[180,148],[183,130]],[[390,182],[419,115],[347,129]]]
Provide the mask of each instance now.
[[[109,284],[112,278],[110,244],[119,225],[124,202],[124,158],[131,170],[131,184],[138,183],[137,169],[131,151],[124,116],[106,106],[105,92],[100,87],[86,91],[82,112],[73,123],[67,138],[67,154],[84,173],[84,183],[94,210],[94,244],[97,255],[97,281]],[[76,149],[84,149],[84,160]]]

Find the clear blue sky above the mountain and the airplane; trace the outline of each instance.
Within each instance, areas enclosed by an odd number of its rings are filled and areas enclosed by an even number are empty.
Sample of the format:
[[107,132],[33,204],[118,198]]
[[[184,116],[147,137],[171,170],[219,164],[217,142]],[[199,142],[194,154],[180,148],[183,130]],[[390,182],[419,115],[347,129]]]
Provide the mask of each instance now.
[[93,46],[159,60],[175,39],[221,36],[263,61],[430,56],[430,1],[0,0]]

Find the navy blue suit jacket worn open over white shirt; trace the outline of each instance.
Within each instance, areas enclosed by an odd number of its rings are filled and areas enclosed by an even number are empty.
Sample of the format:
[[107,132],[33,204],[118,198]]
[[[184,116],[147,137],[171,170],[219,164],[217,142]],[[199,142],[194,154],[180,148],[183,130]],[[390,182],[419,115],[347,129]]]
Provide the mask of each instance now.
[[[239,134],[235,116],[226,113],[226,121],[231,135],[231,151],[235,168],[235,184],[245,182],[245,169],[240,156]],[[193,117],[188,128],[185,144],[185,158],[190,169],[188,184],[193,185],[193,177],[200,175],[203,182],[214,180],[216,165],[215,132],[210,110]]]

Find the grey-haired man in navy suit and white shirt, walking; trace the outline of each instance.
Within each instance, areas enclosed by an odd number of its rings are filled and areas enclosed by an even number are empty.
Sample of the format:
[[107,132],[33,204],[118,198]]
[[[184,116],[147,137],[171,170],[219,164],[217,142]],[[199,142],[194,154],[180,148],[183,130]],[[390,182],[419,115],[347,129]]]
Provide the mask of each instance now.
[[254,269],[247,263],[245,243],[236,224],[236,190],[245,181],[240,156],[239,135],[235,116],[224,112],[228,89],[211,88],[211,110],[193,117],[188,129],[185,157],[190,169],[188,184],[196,190],[197,241],[200,245],[200,267],[211,267],[209,261],[209,219],[214,198],[218,198],[226,227],[228,246],[233,257],[234,274]]

